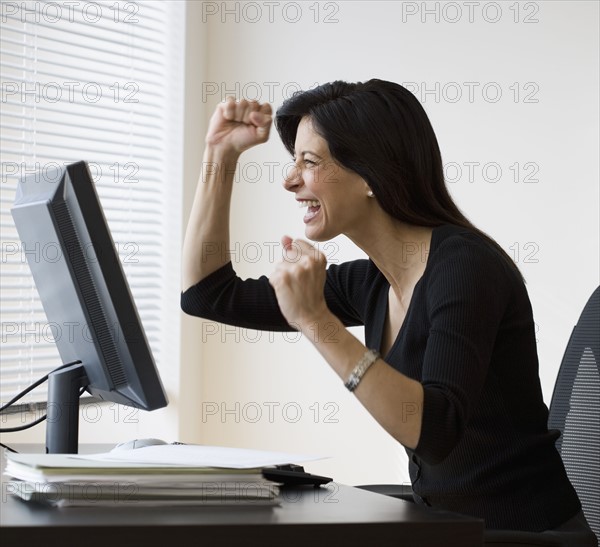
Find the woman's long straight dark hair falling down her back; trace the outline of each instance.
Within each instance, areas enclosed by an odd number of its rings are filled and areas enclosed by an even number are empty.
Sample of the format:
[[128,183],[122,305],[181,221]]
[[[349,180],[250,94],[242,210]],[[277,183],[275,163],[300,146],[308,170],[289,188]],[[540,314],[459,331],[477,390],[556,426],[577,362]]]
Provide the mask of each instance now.
[[417,226],[467,228],[487,240],[518,271],[500,245],[471,224],[450,197],[433,127],[421,103],[406,88],[378,79],[338,80],[294,93],[277,110],[275,119],[292,155],[298,125],[305,116],[327,141],[333,159],[360,175],[389,215]]

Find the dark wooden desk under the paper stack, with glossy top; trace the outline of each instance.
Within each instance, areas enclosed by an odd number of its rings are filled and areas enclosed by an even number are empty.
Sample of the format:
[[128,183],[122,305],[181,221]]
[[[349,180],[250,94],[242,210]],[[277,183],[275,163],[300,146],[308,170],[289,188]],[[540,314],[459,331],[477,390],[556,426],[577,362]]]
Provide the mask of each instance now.
[[436,513],[338,484],[319,489],[285,488],[277,507],[142,508],[132,502],[115,503],[114,507],[56,509],[8,495],[5,481],[3,478],[0,512],[3,545],[483,545],[481,520]]

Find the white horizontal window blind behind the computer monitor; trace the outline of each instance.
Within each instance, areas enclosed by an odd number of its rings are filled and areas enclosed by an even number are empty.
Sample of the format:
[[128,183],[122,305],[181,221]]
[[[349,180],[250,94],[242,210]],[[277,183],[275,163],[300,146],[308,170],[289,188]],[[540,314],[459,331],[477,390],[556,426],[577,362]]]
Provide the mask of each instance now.
[[[85,160],[160,368],[178,268],[183,2],[2,2],[2,402],[61,363],[10,208],[25,174]],[[169,263],[170,262],[170,263]],[[173,262],[175,264],[173,264]],[[171,315],[172,317],[172,315]],[[169,344],[169,356],[173,352]],[[176,356],[175,356],[176,357]],[[25,401],[40,401],[46,387]]]

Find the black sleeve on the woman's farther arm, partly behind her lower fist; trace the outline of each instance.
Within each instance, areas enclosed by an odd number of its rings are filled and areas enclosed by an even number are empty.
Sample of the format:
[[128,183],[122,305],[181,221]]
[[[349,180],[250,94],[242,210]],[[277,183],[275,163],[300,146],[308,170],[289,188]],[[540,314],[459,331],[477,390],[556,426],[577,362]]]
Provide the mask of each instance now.
[[[357,260],[339,266],[332,265],[327,270],[325,301],[346,326],[363,324],[360,280],[364,277],[367,262]],[[269,331],[296,330],[281,313],[269,279],[264,275],[258,279],[241,279],[231,262],[181,293],[181,309],[189,315],[236,327]]]

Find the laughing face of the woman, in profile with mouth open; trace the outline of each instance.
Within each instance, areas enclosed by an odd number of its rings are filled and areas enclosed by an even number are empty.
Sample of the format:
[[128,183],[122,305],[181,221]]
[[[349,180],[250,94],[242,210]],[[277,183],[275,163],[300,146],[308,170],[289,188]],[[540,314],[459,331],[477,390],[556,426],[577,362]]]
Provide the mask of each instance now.
[[366,182],[335,162],[309,117],[298,125],[294,167],[283,182],[304,208],[305,235],[326,241],[357,229],[367,211]]

